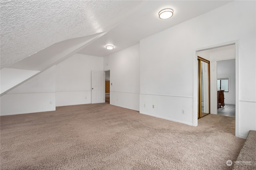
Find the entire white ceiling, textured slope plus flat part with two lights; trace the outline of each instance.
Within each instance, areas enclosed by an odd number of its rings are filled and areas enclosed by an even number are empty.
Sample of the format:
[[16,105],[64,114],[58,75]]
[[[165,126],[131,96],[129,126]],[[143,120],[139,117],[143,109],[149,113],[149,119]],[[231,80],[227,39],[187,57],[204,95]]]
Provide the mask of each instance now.
[[[78,53],[104,57],[229,2],[1,0],[1,69],[60,41],[101,32]],[[172,8],[174,16],[160,20],[163,8]],[[114,50],[106,50],[108,44]]]

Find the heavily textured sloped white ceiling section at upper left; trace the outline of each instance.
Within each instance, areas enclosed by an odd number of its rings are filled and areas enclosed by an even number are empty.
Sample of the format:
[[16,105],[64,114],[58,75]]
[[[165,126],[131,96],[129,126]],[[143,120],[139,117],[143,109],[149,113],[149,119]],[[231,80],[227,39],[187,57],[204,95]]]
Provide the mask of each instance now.
[[54,43],[108,31],[141,3],[1,0],[1,69]]

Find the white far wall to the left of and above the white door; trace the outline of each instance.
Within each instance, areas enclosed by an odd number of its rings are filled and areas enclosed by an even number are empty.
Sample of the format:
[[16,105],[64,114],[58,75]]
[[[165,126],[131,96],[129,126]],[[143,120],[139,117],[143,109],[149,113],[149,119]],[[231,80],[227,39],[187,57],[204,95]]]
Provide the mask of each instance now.
[[56,65],[56,106],[91,103],[91,72],[103,70],[103,58],[75,54]]

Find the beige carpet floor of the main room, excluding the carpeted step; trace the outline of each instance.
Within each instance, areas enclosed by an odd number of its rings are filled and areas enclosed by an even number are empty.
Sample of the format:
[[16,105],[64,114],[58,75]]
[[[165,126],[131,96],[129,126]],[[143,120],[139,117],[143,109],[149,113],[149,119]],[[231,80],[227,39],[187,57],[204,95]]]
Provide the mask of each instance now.
[[1,170],[232,169],[245,139],[234,117],[198,127],[109,104],[1,117]]

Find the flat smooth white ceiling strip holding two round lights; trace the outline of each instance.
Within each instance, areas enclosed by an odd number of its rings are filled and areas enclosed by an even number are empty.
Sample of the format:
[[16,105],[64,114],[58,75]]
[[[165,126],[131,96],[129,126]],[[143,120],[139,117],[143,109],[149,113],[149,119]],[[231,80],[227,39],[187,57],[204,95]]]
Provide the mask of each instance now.
[[[229,2],[231,1],[144,1],[139,8],[134,10],[116,27],[78,53],[99,57],[110,55],[139,43],[141,39]],[[158,12],[164,8],[172,8],[174,10],[172,18],[161,20],[158,17]],[[105,46],[108,44],[114,45],[114,50],[106,50]]]

